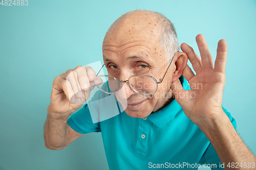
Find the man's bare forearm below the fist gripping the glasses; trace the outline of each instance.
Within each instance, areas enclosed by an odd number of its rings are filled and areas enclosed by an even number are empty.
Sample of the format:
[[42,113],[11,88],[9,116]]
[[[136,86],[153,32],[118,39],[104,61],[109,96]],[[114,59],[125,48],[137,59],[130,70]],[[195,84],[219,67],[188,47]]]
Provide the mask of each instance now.
[[68,117],[70,114],[58,115],[48,111],[44,126],[45,146],[59,150],[66,147],[69,137]]

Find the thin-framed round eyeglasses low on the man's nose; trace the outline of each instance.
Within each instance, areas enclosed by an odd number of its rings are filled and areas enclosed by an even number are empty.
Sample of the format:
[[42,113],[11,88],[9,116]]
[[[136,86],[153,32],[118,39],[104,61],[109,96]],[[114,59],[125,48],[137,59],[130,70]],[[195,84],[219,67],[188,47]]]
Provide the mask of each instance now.
[[[170,61],[170,64],[172,64],[173,59]],[[170,64],[168,68],[170,67]],[[100,70],[103,68],[103,66],[104,64],[102,65]],[[165,71],[163,78],[166,75],[167,70]],[[159,79],[159,82],[158,82],[154,77],[148,76],[148,75],[133,75],[126,81],[119,81],[113,76],[98,75],[98,74],[94,79],[94,83],[102,92],[107,94],[116,93],[120,88],[122,88],[123,83],[128,83],[131,89],[136,93],[139,93],[141,95],[152,95],[157,91],[158,84],[162,83],[163,81],[163,78]],[[98,79],[101,79],[101,80],[98,80]]]

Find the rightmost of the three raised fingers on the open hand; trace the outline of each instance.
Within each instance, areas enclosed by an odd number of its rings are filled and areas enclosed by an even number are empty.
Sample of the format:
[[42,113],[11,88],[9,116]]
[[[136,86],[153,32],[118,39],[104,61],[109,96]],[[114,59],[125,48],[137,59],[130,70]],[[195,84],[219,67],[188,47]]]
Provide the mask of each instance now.
[[221,39],[218,43],[217,57],[215,60],[215,70],[225,73],[227,62],[227,42]]

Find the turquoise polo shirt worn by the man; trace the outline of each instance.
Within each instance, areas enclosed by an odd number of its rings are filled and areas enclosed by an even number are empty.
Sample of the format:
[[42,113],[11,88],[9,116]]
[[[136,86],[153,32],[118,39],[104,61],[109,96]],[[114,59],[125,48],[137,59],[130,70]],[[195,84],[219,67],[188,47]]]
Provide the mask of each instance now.
[[[183,76],[180,81],[185,90],[190,89]],[[92,101],[108,95],[98,90]],[[163,109],[144,118],[130,117],[118,102],[118,109],[113,111],[118,113],[110,113],[104,108],[116,106],[108,104],[108,101],[94,104],[95,109],[89,109],[89,102],[70,116],[68,124],[81,134],[101,132],[110,170],[197,169],[207,165],[211,165],[212,169],[220,167],[221,161],[209,140],[186,117],[175,99]],[[96,115],[109,112],[112,116],[100,120],[90,110]],[[236,120],[226,109],[223,110],[236,129]]]

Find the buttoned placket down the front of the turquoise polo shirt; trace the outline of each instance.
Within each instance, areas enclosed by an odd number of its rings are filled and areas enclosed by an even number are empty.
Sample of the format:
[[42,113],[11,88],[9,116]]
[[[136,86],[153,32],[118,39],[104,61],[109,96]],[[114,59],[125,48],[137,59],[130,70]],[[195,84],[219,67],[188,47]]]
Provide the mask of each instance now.
[[147,149],[147,141],[150,136],[151,122],[147,117],[139,119],[138,133],[137,133],[137,143],[136,152],[145,156]]

